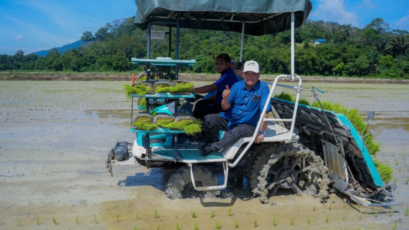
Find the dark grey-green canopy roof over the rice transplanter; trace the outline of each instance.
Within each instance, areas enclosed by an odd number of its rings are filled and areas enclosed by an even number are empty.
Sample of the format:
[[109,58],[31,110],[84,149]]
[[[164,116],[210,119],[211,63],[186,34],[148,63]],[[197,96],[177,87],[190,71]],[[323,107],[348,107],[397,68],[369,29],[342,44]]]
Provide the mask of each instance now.
[[312,9],[311,0],[135,0],[135,3],[134,23],[142,30],[151,21],[168,26],[164,21],[175,22],[179,13],[180,28],[241,32],[245,22],[244,33],[249,35],[289,30],[291,12],[295,12],[295,27],[299,27]]

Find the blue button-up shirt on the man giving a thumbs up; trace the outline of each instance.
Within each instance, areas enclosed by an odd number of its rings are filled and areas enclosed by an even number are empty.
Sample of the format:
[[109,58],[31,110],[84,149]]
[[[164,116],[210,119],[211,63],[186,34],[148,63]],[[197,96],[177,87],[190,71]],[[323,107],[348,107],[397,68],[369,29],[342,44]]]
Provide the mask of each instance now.
[[[230,108],[220,113],[222,118],[229,121],[229,130],[237,124],[249,124],[256,127],[266,100],[270,101],[269,93],[270,89],[262,81],[258,81],[250,89],[246,88],[244,81],[234,84],[230,88]],[[271,103],[268,103],[266,112],[269,111],[271,111]]]

